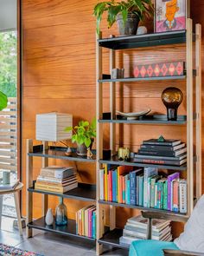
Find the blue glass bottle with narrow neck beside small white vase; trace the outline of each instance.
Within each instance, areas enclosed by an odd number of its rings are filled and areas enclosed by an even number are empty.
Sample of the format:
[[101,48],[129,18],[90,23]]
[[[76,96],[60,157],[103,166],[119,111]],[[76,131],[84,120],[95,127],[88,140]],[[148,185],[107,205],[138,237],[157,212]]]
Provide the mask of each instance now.
[[60,204],[55,210],[55,224],[57,226],[67,225],[67,207],[63,203],[63,197],[60,197]]

